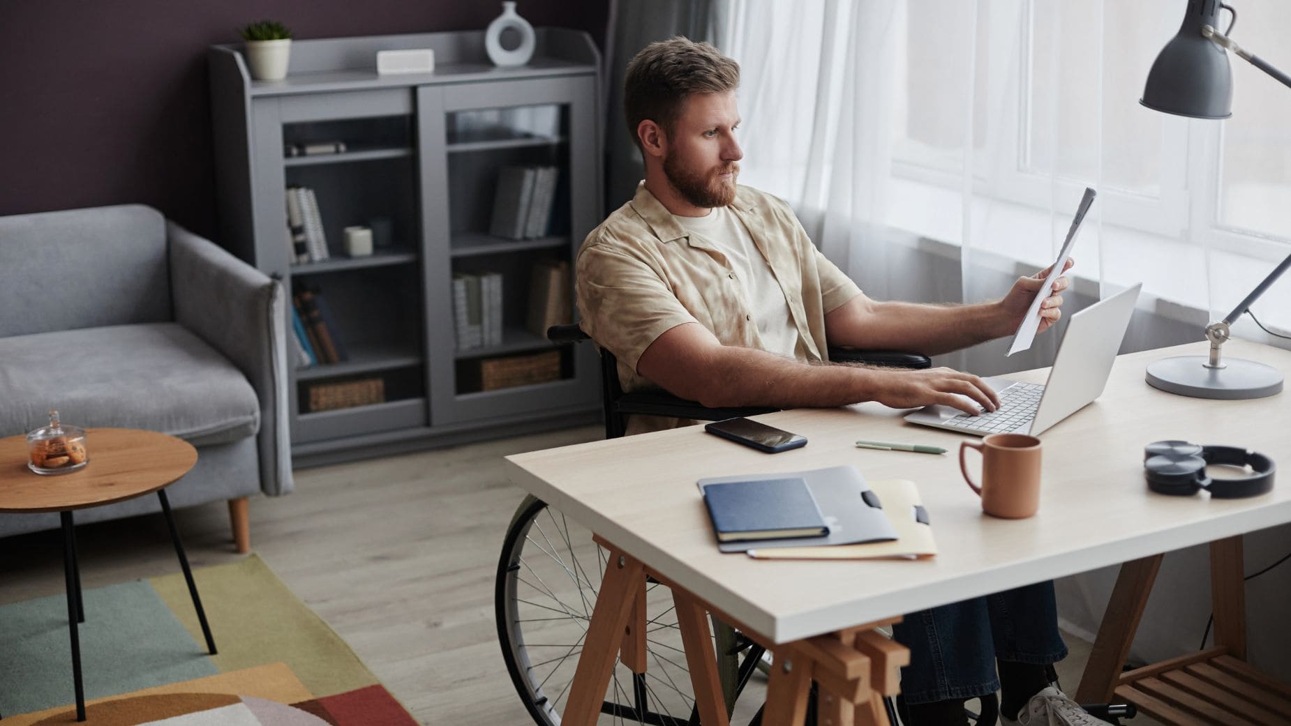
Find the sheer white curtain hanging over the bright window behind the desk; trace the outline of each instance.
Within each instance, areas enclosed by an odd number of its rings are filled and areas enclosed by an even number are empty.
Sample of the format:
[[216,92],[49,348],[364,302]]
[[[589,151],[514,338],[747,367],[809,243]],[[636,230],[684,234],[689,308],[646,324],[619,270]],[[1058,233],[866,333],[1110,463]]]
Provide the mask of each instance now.
[[[1233,0],[1234,40],[1291,70],[1291,4]],[[998,298],[1052,262],[1086,186],[1099,192],[1064,311],[1144,282],[1123,349],[1202,339],[1291,251],[1291,90],[1232,57],[1230,121],[1139,104],[1184,0],[726,0],[715,41],[742,70],[741,182],[794,205],[822,251],[871,297]],[[1256,306],[1291,328],[1291,277]],[[945,356],[979,374],[1052,362],[1062,326],[1006,358],[1007,340]],[[1277,342],[1243,319],[1234,333]],[[1145,433],[1149,436],[1149,433]],[[1159,438],[1159,436],[1158,436]],[[1146,442],[1146,440],[1145,440]],[[1291,530],[1247,538],[1248,570]],[[1197,647],[1208,613],[1205,552],[1167,557],[1137,652]],[[1248,600],[1278,637],[1252,659],[1291,677],[1274,603]],[[1060,585],[1092,631],[1112,575]],[[1255,587],[1255,582],[1251,583]],[[1167,594],[1162,594],[1167,593]]]

